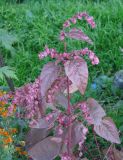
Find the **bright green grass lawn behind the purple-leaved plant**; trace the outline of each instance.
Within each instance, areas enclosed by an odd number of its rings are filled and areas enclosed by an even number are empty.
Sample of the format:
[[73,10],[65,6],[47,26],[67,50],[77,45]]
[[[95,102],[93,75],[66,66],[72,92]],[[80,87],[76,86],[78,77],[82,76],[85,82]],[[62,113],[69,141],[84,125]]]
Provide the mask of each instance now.
[[[119,49],[123,48],[122,0],[27,0],[21,4],[5,3],[1,0],[0,4],[0,28],[16,35],[18,39],[13,44],[13,56],[0,44],[0,53],[4,55],[6,63],[16,70],[19,79],[15,81],[17,87],[33,81],[40,74],[42,66],[49,61],[48,58],[42,61],[38,59],[38,53],[46,44],[63,52],[63,44],[58,40],[62,24],[80,11],[87,11],[95,18],[95,30],[85,23],[84,28],[83,22],[79,23],[79,27],[93,39],[94,45],[68,41],[67,48],[71,51],[88,46],[96,52],[100,64],[93,67],[88,62],[89,82],[101,74],[112,77],[115,72],[123,69],[123,54]],[[112,110],[112,106],[120,98],[112,95],[110,87],[100,94],[88,91],[86,96],[94,95],[99,99],[120,127],[121,120],[116,120],[120,114]],[[75,101],[79,99],[80,95],[75,94]]]

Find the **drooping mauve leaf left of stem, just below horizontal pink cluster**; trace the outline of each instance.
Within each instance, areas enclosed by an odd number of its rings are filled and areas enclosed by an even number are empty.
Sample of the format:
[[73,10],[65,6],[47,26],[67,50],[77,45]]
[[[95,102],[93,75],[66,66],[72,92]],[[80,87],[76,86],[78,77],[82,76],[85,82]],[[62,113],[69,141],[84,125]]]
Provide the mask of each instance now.
[[57,79],[60,74],[60,67],[55,65],[54,62],[49,62],[44,65],[41,76],[41,96],[45,97],[47,90],[51,87],[52,83]]

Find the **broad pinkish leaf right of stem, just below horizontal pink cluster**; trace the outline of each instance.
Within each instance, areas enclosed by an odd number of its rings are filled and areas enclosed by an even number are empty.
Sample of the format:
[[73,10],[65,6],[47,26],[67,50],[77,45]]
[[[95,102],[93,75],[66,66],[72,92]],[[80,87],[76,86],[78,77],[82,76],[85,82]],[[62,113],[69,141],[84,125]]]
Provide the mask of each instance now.
[[84,59],[67,61],[65,63],[65,72],[79,91],[84,94],[88,82],[88,67]]

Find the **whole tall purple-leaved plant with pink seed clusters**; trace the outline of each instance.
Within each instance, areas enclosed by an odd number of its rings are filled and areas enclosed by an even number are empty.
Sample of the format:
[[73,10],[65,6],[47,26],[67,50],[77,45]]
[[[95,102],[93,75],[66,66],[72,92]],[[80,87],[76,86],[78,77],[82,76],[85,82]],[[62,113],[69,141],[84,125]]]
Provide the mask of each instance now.
[[[26,140],[28,153],[34,160],[52,160],[57,155],[62,160],[82,158],[88,126],[107,141],[120,143],[115,124],[95,99],[88,98],[74,105],[70,102],[72,93],[79,90],[84,95],[86,90],[88,67],[83,57],[87,55],[92,65],[99,63],[98,57],[88,48],[67,52],[66,37],[93,43],[82,30],[71,29],[71,24],[83,18],[95,28],[93,17],[87,13],[76,14],[67,20],[60,33],[64,53],[46,47],[39,58],[50,56],[56,61],[44,65],[33,84],[27,84],[15,93],[13,103],[25,107],[25,117],[30,120],[31,130]],[[48,107],[51,112],[45,114]],[[73,152],[75,146],[78,146],[76,154]]]

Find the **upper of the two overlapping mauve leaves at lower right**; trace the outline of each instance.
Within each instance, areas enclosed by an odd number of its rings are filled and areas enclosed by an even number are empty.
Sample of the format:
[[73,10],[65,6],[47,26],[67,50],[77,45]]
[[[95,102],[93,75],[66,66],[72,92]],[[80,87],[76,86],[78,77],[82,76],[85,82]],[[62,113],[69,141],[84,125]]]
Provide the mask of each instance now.
[[92,123],[99,125],[102,122],[102,118],[106,115],[101,105],[93,98],[87,100],[87,107],[89,109]]

